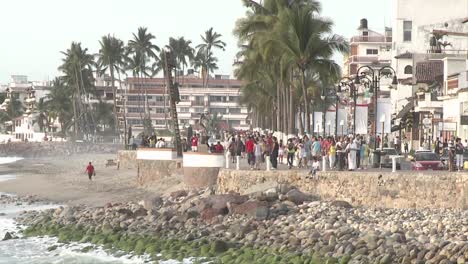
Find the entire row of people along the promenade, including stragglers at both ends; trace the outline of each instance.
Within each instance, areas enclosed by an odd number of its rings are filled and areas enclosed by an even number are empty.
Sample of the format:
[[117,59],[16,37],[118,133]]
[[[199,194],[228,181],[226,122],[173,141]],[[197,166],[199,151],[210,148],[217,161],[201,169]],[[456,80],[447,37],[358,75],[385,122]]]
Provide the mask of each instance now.
[[[200,135],[194,134],[189,139],[182,139],[184,152],[197,152],[200,146]],[[389,139],[380,135],[348,135],[348,136],[309,136],[290,137],[283,142],[272,133],[242,131],[225,137],[224,141],[208,138],[204,140],[208,152],[225,154],[232,163],[238,162],[238,158],[246,159],[251,170],[259,170],[267,159],[273,170],[278,164],[285,164],[289,169],[310,169],[311,174],[323,166],[331,170],[362,170],[371,165],[370,153],[374,147],[394,148],[399,154],[409,153],[409,141],[395,136]],[[170,147],[164,138],[156,135],[143,136],[140,142],[142,147],[166,148]],[[136,149],[134,137],[130,138],[129,145]],[[451,137],[444,141],[437,138],[433,142],[425,140],[421,149],[431,150],[439,155],[448,156],[449,168],[463,170],[463,153],[468,151],[468,140],[464,142],[460,138]],[[325,162],[324,162],[325,160]],[[453,169],[454,168],[454,169]]]

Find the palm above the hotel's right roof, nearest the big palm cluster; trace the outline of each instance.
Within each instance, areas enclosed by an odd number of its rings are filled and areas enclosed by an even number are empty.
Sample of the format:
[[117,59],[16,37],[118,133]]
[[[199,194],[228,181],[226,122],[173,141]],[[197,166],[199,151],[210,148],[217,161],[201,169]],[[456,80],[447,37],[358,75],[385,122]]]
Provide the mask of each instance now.
[[[213,28],[205,31],[205,35],[200,35],[202,42],[197,45],[197,55],[195,60],[199,62],[205,62],[204,65],[199,65],[202,72],[203,86],[208,85],[209,73],[210,70],[217,69],[213,66],[213,63],[216,63],[217,59],[213,56],[212,48],[222,49],[224,51],[226,43],[221,40],[222,35],[213,31]],[[211,64],[211,65],[210,65]]]

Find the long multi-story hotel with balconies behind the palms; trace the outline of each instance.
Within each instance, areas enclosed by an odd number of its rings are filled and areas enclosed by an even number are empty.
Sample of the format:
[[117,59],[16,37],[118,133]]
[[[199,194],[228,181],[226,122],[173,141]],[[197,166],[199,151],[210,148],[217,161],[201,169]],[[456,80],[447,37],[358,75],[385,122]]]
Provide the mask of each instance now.
[[[201,115],[207,113],[217,113],[224,129],[250,128],[248,108],[239,103],[240,81],[221,75],[209,79],[206,87],[203,80],[194,75],[180,77],[177,81],[180,95],[177,113],[181,128],[192,125],[198,129]],[[142,129],[142,116],[147,107],[153,127],[168,128],[171,117],[164,78],[127,78],[121,94],[120,113],[125,114],[127,126],[134,130]]]

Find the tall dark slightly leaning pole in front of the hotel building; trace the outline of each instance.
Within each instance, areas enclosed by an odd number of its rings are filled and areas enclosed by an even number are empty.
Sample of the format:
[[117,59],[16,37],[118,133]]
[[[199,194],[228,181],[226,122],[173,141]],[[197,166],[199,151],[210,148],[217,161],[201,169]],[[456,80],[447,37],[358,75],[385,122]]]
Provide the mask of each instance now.
[[[165,68],[165,78],[166,78],[166,87],[169,88],[170,94],[170,104],[171,104],[171,116],[172,124],[174,126],[174,136],[175,136],[175,147],[177,150],[177,157],[182,157],[182,142],[180,139],[180,130],[179,130],[179,120],[177,118],[177,107],[176,103],[180,101],[179,98],[179,87],[174,85],[172,80],[172,69],[175,68],[175,65],[170,65],[168,59],[170,59],[172,54],[170,52],[164,52],[164,68]],[[172,61],[172,60],[171,60]]]

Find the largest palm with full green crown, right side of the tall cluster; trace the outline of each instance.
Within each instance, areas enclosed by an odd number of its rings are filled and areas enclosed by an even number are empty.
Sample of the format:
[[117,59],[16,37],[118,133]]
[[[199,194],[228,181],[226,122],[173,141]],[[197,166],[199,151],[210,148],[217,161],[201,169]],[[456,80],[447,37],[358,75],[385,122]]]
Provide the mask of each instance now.
[[317,10],[320,10],[318,2],[315,5],[294,4],[292,8],[283,9],[269,42],[281,49],[282,60],[294,63],[299,70],[307,131],[310,129],[310,115],[306,75],[328,71],[339,76],[340,67],[331,57],[335,51],[345,53],[349,50],[348,43],[341,36],[331,34],[333,23],[318,17]]

